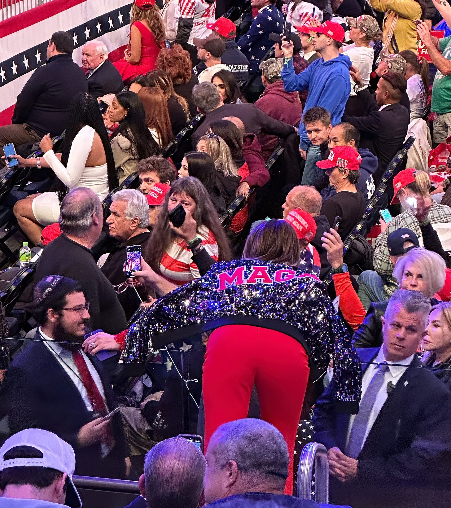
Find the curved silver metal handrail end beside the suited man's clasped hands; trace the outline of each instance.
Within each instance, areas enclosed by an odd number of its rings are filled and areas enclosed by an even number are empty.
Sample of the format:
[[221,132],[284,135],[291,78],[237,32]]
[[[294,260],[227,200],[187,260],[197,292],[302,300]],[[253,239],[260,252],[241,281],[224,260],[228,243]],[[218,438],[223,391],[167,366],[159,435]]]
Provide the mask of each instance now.
[[329,502],[329,462],[323,444],[307,443],[302,449],[298,468],[297,496],[300,499],[312,498],[313,466],[315,466],[315,501]]

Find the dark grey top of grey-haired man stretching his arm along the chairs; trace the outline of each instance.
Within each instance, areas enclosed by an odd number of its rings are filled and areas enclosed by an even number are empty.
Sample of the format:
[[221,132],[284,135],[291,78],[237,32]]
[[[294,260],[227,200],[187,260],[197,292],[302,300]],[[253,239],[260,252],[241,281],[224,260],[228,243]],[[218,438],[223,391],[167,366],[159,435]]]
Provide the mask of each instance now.
[[295,128],[292,125],[271,118],[253,104],[242,102],[237,104],[224,104],[207,113],[202,124],[192,134],[192,146],[195,150],[199,138],[207,132],[208,125],[214,120],[221,120],[224,116],[237,116],[240,118],[244,123],[246,133],[255,134],[257,138],[259,138],[259,141],[262,132],[265,134],[273,134],[283,139],[295,132]]

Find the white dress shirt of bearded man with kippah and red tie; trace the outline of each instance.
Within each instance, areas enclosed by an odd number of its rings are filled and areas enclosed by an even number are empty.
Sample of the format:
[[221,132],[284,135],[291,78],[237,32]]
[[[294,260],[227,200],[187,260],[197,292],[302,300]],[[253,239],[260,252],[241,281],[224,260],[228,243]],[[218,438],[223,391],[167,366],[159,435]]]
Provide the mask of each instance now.
[[[74,362],[74,357],[72,356],[72,352],[66,350],[63,348],[60,344],[55,342],[52,338],[47,336],[39,327],[39,333],[41,334],[42,338],[44,339],[44,344],[49,348],[50,353],[55,357],[55,359],[58,360],[61,367],[66,371],[68,376],[71,378],[72,382],[74,383],[77,390],[80,392],[81,398],[83,399],[83,402],[86,406],[86,409],[88,411],[93,411],[92,404],[89,401],[88,393],[86,391],[85,386],[83,385],[80,377],[79,372],[77,369],[77,366]],[[99,376],[99,373],[95,370],[92,363],[89,361],[89,359],[86,357],[86,355],[83,353],[82,350],[80,350],[81,356],[83,357],[83,360],[86,362],[86,366],[88,367],[89,373],[91,374],[92,378],[94,379],[94,383],[99,389],[100,394],[102,395],[102,399],[105,403],[105,406],[108,409],[107,399],[105,398],[105,390],[102,385],[102,380]]]

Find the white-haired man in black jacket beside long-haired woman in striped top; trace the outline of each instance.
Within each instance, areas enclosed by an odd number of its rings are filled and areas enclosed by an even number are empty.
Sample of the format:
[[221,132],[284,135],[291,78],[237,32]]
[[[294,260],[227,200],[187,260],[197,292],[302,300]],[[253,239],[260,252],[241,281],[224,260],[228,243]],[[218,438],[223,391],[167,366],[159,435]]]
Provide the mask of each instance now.
[[[109,254],[101,256],[98,265],[102,273],[115,286],[125,282],[123,264],[126,248],[129,245],[140,245],[144,253],[149,239],[149,205],[144,194],[136,189],[123,189],[113,194],[110,215],[107,218],[110,236],[119,242]],[[118,294],[119,302],[128,319],[139,307],[140,301],[135,290],[128,287]]]

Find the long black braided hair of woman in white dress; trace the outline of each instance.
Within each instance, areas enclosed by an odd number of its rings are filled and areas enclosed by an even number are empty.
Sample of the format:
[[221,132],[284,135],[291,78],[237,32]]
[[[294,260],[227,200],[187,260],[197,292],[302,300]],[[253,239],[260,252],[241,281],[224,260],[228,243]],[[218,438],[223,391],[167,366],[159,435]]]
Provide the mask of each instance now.
[[[102,113],[100,112],[99,103],[88,92],[77,93],[72,99],[69,109],[69,124],[62,145],[61,164],[67,167],[72,142],[85,125],[92,127],[102,140],[107,159],[108,189],[113,190],[118,185],[113,151],[111,150],[110,140],[102,118]],[[58,194],[59,203],[61,203],[69,189],[59,179],[56,181],[54,188]]]

